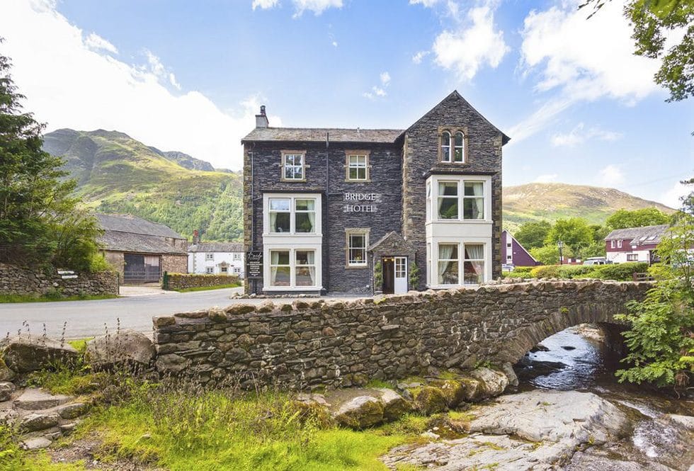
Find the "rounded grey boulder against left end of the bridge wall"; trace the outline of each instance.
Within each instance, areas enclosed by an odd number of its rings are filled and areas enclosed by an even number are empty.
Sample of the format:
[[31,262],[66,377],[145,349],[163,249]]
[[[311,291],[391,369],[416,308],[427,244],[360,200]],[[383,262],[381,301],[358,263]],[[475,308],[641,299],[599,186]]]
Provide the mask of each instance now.
[[86,344],[86,360],[96,369],[113,366],[146,367],[154,359],[154,344],[133,330],[98,336]]

